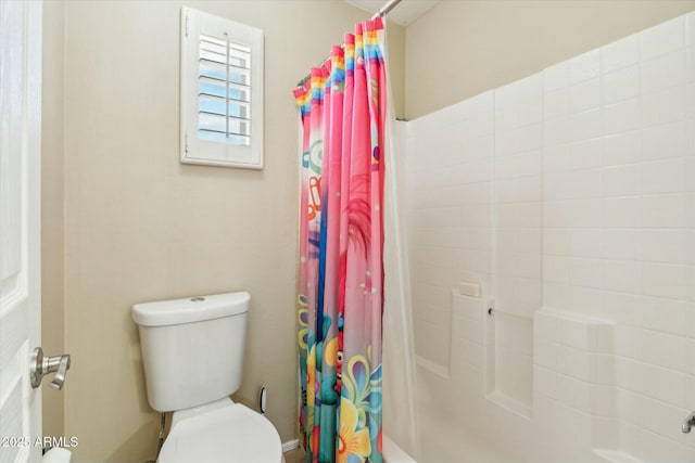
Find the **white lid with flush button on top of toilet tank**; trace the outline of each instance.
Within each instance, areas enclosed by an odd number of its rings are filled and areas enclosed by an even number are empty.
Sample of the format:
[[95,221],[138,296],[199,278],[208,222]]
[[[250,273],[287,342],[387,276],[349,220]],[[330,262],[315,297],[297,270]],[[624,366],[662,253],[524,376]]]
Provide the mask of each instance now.
[[159,300],[132,306],[132,320],[141,326],[166,326],[232,317],[249,311],[251,295],[245,291]]

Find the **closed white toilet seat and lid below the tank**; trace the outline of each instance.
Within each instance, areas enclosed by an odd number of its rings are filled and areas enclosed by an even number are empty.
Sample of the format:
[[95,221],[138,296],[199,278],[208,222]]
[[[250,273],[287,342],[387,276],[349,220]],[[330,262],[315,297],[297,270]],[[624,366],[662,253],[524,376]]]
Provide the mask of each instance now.
[[280,463],[282,445],[265,416],[227,399],[212,410],[175,414],[157,463],[191,462]]

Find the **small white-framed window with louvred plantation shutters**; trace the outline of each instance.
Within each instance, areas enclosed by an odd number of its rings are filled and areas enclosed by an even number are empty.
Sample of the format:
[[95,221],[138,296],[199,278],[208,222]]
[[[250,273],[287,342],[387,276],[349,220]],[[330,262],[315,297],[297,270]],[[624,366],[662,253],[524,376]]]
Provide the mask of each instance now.
[[263,168],[263,31],[181,9],[181,163]]

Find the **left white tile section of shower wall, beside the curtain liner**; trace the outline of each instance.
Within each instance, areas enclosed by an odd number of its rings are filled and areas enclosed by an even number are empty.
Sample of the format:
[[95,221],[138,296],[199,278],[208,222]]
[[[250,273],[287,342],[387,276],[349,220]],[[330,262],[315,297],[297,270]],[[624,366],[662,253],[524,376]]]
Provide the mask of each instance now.
[[451,288],[492,292],[493,94],[408,123],[406,203],[418,357],[444,370]]

